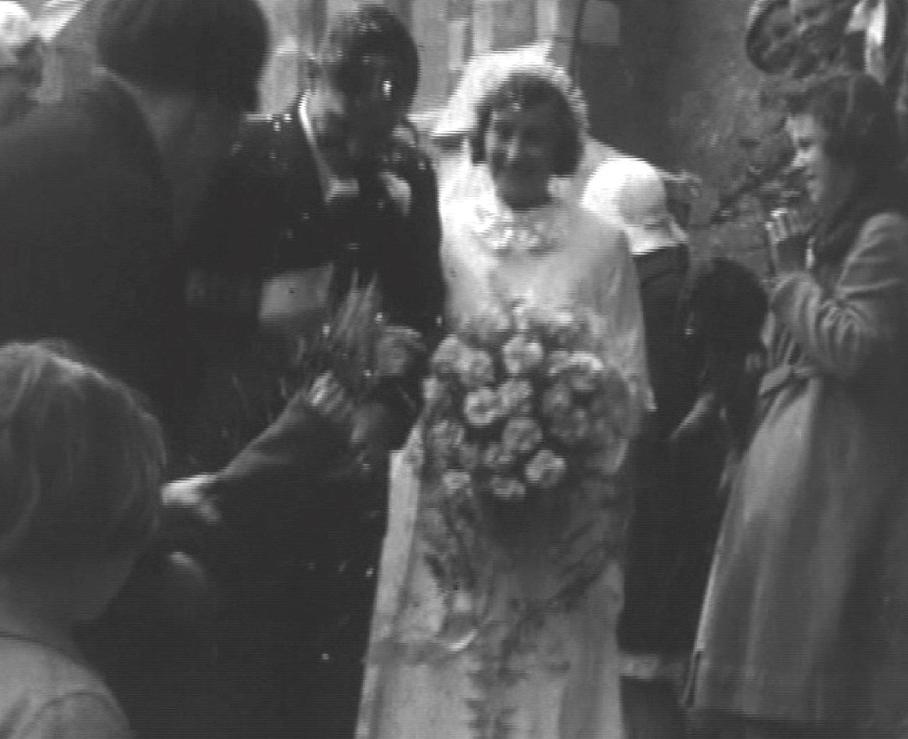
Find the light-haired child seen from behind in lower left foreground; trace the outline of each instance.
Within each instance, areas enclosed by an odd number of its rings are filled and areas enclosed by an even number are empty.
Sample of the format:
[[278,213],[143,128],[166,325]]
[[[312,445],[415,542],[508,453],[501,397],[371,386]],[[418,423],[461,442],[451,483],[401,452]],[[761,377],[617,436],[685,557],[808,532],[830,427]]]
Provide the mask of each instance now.
[[0,349],[0,726],[9,739],[128,739],[74,639],[157,524],[161,428],[132,389],[50,344]]

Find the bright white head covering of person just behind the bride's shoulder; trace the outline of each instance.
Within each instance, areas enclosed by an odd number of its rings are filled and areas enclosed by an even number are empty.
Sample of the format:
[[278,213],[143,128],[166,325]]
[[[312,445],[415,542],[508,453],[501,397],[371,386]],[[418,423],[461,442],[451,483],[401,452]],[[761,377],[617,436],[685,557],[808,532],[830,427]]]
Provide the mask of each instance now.
[[581,204],[622,229],[634,256],[674,249],[687,241],[668,211],[662,178],[642,159],[618,157],[600,164],[587,182]]

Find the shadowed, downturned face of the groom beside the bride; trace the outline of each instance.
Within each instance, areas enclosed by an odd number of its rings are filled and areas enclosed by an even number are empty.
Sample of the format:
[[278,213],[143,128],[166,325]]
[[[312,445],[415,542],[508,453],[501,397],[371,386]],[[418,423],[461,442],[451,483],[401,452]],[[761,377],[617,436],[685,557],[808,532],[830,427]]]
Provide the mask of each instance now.
[[409,107],[400,78],[400,63],[384,54],[324,64],[312,94],[322,142],[353,159],[380,150]]

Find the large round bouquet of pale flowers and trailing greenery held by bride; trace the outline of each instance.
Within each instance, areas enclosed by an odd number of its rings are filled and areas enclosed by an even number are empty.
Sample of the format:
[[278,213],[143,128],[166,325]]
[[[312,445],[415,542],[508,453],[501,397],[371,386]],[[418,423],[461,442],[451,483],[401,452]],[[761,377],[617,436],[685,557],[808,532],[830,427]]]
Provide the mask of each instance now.
[[439,345],[421,469],[425,556],[443,592],[475,592],[489,568],[528,549],[564,566],[565,593],[597,575],[580,560],[596,549],[601,561],[603,542],[578,558],[573,543],[589,522],[575,514],[620,505],[615,481],[635,424],[600,335],[592,315],[517,306]]

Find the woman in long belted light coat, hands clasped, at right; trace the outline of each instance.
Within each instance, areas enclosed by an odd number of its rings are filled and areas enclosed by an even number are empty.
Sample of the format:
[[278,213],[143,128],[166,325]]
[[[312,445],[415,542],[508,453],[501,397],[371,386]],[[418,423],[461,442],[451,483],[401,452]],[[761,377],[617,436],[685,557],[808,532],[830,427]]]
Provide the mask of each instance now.
[[720,737],[876,737],[880,549],[908,427],[898,137],[865,74],[814,79],[786,113],[819,217],[809,242],[787,214],[770,223],[768,370],[716,549],[693,705]]

